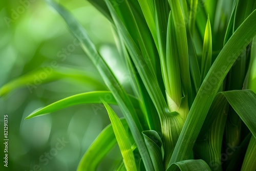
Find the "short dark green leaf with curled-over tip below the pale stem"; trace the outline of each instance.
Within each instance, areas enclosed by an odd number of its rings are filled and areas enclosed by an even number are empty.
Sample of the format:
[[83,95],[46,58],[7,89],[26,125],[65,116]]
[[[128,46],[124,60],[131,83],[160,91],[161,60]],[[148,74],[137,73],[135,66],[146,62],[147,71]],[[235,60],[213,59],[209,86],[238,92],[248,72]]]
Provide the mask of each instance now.
[[163,143],[154,130],[142,132],[155,170],[165,170],[163,165]]

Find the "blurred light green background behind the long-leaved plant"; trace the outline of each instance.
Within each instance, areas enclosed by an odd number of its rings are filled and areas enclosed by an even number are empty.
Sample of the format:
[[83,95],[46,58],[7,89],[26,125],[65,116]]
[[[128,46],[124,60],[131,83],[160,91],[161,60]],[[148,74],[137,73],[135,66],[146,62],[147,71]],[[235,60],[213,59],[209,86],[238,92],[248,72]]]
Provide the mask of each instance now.
[[[130,93],[123,60],[118,55],[115,36],[108,20],[87,1],[59,1],[86,28],[99,52]],[[67,30],[61,17],[40,0],[0,2],[0,87],[24,75],[56,64],[56,70],[75,69],[94,77],[87,80],[63,78],[36,88],[19,88],[0,98],[1,142],[3,120],[8,115],[8,168],[4,167],[1,143],[1,170],[76,170],[87,148],[110,123],[102,105],[79,105],[51,115],[24,120],[34,110],[78,93],[106,90],[95,67]],[[66,51],[66,52],[65,52]],[[253,62],[250,84],[256,84]],[[37,75],[35,75],[36,78]],[[253,83],[254,82],[254,83]],[[255,87],[250,87],[256,92]],[[120,110],[113,106],[121,117]],[[113,170],[121,159],[118,147],[98,167]]]

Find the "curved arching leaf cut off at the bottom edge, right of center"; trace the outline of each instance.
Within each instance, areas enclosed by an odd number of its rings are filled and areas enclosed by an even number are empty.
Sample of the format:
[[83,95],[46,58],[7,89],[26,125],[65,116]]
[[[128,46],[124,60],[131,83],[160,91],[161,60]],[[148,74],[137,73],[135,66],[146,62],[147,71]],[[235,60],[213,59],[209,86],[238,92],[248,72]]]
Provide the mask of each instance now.
[[203,160],[183,160],[180,162],[173,163],[168,167],[166,171],[198,171],[205,170],[210,171],[210,167]]

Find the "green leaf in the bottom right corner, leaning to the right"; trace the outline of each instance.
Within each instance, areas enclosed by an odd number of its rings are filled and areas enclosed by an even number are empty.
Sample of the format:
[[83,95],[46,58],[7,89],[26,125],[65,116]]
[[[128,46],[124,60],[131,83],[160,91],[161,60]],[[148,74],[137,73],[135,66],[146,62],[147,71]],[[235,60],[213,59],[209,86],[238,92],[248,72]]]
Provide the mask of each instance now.
[[247,151],[244,157],[244,162],[241,170],[255,170],[256,169],[256,138],[251,136],[251,140],[247,147]]

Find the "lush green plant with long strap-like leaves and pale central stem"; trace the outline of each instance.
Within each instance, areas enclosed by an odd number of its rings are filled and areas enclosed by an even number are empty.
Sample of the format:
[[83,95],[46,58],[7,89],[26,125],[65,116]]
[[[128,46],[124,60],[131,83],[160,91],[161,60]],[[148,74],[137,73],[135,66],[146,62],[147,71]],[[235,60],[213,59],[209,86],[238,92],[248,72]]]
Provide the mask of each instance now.
[[[95,170],[116,143],[123,157],[116,170],[254,170],[256,95],[246,89],[256,54],[256,3],[89,2],[113,25],[134,94],[126,92],[86,30],[65,8],[50,1],[109,91],[62,99],[26,119],[102,102],[112,124],[89,147],[78,170]],[[78,79],[90,78],[74,72]],[[66,76],[70,75],[54,72],[45,81]],[[0,93],[31,81],[31,75],[22,76]],[[106,95],[111,98],[101,99]],[[119,119],[108,104],[118,105],[124,118]]]

